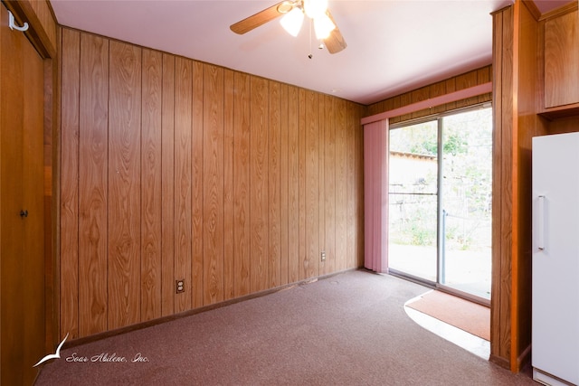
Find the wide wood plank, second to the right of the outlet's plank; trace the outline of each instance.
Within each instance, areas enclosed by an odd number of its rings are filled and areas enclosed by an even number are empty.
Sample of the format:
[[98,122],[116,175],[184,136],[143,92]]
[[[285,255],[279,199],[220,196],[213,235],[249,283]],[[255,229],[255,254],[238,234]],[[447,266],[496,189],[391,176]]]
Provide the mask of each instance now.
[[204,64],[204,305],[223,301],[223,68]]

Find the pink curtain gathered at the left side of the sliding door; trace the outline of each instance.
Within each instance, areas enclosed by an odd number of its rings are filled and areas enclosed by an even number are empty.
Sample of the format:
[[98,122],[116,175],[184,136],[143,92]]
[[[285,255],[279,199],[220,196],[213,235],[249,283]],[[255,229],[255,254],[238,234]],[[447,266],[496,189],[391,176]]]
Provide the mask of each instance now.
[[388,119],[364,126],[364,267],[388,271]]

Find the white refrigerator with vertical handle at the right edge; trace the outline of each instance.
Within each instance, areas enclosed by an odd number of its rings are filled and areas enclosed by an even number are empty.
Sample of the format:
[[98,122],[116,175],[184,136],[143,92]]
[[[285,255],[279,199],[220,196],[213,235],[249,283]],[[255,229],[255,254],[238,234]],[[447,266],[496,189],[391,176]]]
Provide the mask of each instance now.
[[579,133],[533,138],[533,378],[579,384]]

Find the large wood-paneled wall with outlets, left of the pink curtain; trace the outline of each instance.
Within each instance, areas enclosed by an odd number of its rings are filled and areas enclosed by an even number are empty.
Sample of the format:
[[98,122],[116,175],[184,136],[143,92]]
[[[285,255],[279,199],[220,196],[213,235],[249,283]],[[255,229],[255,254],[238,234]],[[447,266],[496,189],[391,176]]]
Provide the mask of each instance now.
[[362,266],[363,109],[63,28],[61,336]]

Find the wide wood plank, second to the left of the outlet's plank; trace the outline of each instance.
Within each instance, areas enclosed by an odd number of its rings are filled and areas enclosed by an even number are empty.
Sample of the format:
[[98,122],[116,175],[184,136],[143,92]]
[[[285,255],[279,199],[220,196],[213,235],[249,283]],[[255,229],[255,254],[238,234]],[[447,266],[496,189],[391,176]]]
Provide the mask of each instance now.
[[141,118],[141,320],[161,314],[163,54],[143,50]]

